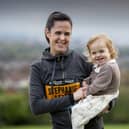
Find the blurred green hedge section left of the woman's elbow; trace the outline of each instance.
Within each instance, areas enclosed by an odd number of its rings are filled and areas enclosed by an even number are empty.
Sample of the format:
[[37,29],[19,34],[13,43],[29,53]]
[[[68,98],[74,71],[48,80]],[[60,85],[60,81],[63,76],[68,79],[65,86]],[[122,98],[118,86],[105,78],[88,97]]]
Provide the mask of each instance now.
[[32,115],[26,93],[0,94],[0,125],[49,124],[49,115]]

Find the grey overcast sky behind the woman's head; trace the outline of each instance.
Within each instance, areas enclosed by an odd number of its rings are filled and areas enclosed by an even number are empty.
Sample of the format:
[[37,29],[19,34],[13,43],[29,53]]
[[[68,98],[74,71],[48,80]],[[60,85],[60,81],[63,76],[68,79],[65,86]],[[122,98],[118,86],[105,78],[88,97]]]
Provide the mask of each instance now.
[[129,44],[129,0],[0,0],[0,38],[44,40],[53,11],[72,18],[73,37],[81,41],[106,33],[117,44]]

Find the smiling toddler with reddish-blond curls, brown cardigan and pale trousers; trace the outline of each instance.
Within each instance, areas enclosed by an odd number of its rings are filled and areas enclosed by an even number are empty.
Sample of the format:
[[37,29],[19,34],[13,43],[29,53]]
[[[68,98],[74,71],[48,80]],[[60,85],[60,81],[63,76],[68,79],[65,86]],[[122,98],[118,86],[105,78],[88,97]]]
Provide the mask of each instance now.
[[87,49],[94,65],[91,75],[83,81],[83,85],[87,86],[87,97],[72,107],[73,129],[83,129],[119,95],[117,51],[110,38],[104,34],[96,35],[88,41]]

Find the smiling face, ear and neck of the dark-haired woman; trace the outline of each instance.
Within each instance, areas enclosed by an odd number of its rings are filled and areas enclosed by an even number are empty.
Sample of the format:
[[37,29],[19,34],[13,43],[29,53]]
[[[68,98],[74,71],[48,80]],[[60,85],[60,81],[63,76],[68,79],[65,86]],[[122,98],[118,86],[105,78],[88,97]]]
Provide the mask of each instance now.
[[55,21],[49,31],[45,30],[49,39],[50,53],[52,55],[63,54],[69,47],[72,27],[69,21]]

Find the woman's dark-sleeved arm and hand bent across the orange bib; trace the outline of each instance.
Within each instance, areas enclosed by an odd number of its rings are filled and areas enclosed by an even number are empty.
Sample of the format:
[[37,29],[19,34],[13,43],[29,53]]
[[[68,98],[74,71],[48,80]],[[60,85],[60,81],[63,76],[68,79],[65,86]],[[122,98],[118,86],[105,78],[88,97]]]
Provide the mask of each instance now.
[[39,65],[32,65],[30,73],[29,101],[34,114],[56,112],[63,110],[74,104],[84,95],[84,88],[78,89],[74,94],[66,95],[54,99],[46,99],[41,83],[41,74]]

